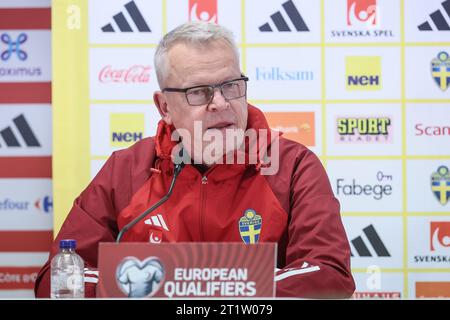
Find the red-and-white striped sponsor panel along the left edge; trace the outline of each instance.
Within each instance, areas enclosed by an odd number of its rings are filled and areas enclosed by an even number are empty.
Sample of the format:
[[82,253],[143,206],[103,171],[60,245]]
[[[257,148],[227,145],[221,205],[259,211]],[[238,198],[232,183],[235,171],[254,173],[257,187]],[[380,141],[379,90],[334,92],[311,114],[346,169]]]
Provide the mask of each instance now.
[[0,298],[34,296],[53,236],[50,4],[0,1]]

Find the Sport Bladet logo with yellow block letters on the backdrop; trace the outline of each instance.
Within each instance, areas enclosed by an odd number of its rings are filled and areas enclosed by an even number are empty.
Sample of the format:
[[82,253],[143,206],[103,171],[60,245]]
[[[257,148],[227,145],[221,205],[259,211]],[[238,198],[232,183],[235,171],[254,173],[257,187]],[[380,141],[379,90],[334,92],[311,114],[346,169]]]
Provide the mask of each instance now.
[[393,140],[391,117],[338,117],[336,124],[336,143],[390,143]]

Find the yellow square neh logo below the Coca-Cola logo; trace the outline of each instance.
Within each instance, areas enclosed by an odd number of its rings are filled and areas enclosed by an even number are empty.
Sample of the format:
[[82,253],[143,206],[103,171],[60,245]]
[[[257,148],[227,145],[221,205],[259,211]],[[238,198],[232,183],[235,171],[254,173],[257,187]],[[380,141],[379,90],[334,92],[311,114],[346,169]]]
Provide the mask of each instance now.
[[144,137],[143,113],[111,113],[111,147],[128,147]]

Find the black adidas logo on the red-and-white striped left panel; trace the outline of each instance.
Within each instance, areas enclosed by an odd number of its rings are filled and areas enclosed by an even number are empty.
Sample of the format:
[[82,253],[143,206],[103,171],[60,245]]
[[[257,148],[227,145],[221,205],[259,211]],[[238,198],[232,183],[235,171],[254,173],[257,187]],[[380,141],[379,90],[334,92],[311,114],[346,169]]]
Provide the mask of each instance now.
[[[22,147],[23,145],[26,145],[27,147],[41,146],[23,114],[15,117],[13,123],[15,128],[19,131],[18,133],[22,137],[23,143],[19,142],[17,139],[18,135],[14,133],[13,126],[8,126],[3,130],[0,130],[0,136],[2,136],[7,147]],[[1,147],[2,145],[0,144],[0,148]]]

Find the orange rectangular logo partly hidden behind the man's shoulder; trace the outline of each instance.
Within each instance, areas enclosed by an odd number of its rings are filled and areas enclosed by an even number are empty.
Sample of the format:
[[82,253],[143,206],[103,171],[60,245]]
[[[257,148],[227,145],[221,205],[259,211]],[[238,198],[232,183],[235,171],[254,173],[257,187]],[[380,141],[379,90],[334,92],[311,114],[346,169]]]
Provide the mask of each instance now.
[[314,112],[265,112],[272,130],[280,131],[283,137],[305,146],[316,145]]

